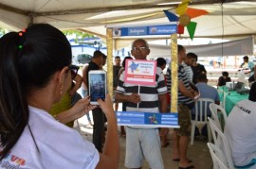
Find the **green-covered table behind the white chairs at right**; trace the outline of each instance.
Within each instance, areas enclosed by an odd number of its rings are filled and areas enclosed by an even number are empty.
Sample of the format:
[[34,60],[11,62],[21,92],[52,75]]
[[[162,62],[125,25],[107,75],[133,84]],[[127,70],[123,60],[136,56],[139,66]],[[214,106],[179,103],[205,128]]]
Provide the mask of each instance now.
[[[227,115],[229,116],[230,111],[233,109],[235,104],[241,100],[248,99],[248,94],[240,94],[236,91],[228,91],[227,89],[223,89],[223,93],[219,93],[220,101],[224,101],[225,110]],[[224,98],[225,97],[225,98]]]

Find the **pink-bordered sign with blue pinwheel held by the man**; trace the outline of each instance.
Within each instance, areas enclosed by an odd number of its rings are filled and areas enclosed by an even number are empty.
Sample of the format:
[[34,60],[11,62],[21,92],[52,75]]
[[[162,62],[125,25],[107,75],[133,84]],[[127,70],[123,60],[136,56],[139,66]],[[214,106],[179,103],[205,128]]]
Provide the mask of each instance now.
[[155,86],[156,61],[126,59],[125,83]]

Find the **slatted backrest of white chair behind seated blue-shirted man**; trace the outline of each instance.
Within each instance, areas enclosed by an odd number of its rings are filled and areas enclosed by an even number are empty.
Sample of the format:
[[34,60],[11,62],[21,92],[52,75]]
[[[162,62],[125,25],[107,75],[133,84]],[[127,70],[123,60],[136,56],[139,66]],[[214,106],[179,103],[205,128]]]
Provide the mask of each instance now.
[[210,111],[209,105],[214,103],[211,98],[199,98],[194,105],[195,121],[206,123],[207,116]]

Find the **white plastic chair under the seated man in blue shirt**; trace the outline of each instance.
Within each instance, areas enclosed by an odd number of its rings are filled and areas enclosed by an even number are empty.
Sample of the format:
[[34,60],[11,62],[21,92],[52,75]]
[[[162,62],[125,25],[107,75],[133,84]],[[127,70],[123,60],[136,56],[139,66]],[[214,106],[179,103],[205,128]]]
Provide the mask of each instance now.
[[210,126],[207,120],[207,111],[209,110],[210,103],[214,103],[214,100],[210,98],[199,98],[195,103],[195,119],[192,120],[191,144],[193,144],[194,130],[197,125],[207,125],[208,141],[211,141]]

